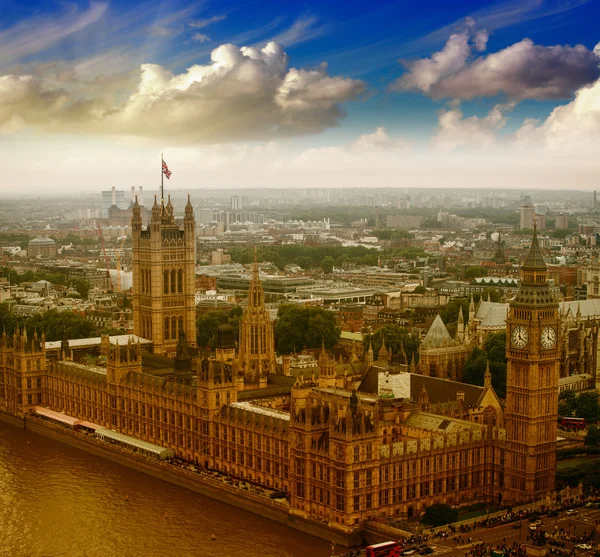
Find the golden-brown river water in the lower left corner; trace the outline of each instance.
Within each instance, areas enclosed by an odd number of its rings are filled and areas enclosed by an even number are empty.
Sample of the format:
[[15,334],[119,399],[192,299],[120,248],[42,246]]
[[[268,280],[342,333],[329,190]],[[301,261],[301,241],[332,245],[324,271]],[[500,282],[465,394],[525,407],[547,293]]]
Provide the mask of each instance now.
[[0,555],[326,557],[331,549],[324,540],[0,422]]

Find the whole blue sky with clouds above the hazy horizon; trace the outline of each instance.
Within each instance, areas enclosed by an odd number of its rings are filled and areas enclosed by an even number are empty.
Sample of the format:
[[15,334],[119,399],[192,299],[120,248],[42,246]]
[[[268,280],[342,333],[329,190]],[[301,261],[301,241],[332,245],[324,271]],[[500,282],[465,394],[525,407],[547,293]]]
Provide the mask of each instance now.
[[0,195],[600,184],[600,0],[0,5]]

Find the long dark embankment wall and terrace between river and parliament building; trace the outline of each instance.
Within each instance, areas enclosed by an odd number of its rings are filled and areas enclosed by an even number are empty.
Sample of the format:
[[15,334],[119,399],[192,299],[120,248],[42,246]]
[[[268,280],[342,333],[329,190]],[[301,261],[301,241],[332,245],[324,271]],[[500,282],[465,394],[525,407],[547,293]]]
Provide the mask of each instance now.
[[290,528],[294,528],[295,530],[299,530],[311,536],[334,542],[336,545],[354,547],[363,542],[362,530],[353,531],[351,533],[342,532],[338,529],[329,527],[326,523],[316,522],[290,513],[289,505],[286,503],[255,495],[249,491],[200,475],[197,472],[174,466],[167,462],[147,458],[121,447],[100,441],[92,435],[73,431],[61,425],[53,424],[29,415],[26,417],[15,416],[0,411],[0,420],[15,427],[65,443],[101,458],[111,460],[122,466],[127,466],[128,468],[154,476],[185,489],[195,491],[196,493],[201,493],[211,499],[258,514],[269,520],[285,524]]

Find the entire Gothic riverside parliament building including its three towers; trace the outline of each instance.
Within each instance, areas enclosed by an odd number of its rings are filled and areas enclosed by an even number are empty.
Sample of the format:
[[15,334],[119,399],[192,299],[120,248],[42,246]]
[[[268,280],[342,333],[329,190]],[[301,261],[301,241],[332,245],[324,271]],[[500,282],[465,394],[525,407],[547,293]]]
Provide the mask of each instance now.
[[239,339],[195,346],[195,220],[135,202],[135,334],[0,339],[0,410],[46,408],[169,448],[197,465],[288,493],[290,514],[348,531],[427,506],[530,502],[554,490],[560,315],[534,233],[507,318],[507,398],[323,347],[318,373],[277,359],[258,263]]

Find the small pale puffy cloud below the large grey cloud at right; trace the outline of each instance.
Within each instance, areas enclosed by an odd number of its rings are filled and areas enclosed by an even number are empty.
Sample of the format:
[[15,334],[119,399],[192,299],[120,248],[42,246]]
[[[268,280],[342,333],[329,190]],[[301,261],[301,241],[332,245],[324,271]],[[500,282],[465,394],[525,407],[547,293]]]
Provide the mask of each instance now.
[[434,149],[450,152],[457,148],[489,151],[497,142],[497,132],[506,125],[505,112],[513,105],[496,105],[483,117],[464,118],[458,106],[441,112],[438,130],[431,140]]

